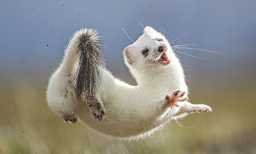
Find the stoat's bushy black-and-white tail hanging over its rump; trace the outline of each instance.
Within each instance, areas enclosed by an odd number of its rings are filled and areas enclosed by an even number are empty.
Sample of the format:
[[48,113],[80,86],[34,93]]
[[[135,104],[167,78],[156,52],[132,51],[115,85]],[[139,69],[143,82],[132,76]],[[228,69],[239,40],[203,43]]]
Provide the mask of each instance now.
[[96,97],[97,90],[104,86],[103,69],[106,67],[101,57],[101,40],[95,29],[80,29],[74,34],[77,47],[77,65],[74,76],[75,95],[87,99]]

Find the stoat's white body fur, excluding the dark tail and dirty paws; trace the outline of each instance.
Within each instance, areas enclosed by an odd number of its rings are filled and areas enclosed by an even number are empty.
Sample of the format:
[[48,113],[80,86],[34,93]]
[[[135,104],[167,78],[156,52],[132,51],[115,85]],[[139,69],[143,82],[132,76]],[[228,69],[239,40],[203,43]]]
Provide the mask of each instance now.
[[[151,27],[146,27],[144,34],[124,49],[125,64],[136,79],[137,86],[124,83],[103,68],[105,88],[99,91],[99,98],[106,114],[101,121],[95,119],[86,103],[75,99],[74,87],[69,82],[75,73],[77,55],[74,42],[77,36],[78,32],[69,42],[63,62],[49,81],[47,100],[56,114],[72,112],[85,125],[101,134],[134,140],[151,136],[173,119],[192,112],[211,111],[209,106],[193,105],[186,101],[177,102],[177,106],[167,109],[162,108],[167,93],[180,90],[187,94],[188,88],[183,68],[168,40]],[[170,59],[167,66],[160,66],[156,62],[161,56],[157,51],[160,44],[165,46],[164,52]],[[145,48],[149,49],[146,57],[141,54]]]

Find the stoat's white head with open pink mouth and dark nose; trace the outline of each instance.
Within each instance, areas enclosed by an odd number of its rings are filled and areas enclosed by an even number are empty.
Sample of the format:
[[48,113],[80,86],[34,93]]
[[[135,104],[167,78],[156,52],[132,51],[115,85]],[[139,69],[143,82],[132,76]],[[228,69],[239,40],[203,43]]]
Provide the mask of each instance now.
[[132,45],[124,49],[127,67],[135,69],[167,67],[171,63],[171,46],[167,39],[155,29],[146,27],[144,34]]

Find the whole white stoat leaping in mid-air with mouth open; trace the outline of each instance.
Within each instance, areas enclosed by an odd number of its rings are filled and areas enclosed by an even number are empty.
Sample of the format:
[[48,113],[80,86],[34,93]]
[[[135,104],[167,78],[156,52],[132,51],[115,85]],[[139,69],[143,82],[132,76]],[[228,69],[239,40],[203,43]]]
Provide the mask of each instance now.
[[133,140],[152,135],[171,120],[211,111],[207,105],[187,102],[180,61],[168,40],[153,28],[146,27],[123,52],[137,86],[114,77],[100,52],[97,31],[80,29],[51,75],[47,101],[65,122],[81,119],[101,134]]

